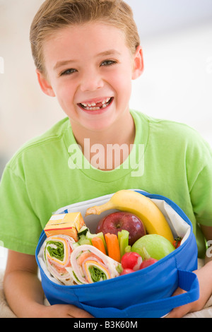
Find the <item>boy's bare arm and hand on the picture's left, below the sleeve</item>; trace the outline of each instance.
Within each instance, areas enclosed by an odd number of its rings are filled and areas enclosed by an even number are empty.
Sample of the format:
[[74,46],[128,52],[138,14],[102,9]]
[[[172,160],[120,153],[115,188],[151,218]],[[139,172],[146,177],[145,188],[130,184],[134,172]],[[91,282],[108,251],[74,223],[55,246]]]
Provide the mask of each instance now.
[[19,318],[90,318],[88,312],[73,305],[56,304],[46,307],[44,293],[37,278],[35,256],[8,251],[4,275],[6,300]]

